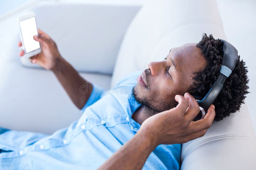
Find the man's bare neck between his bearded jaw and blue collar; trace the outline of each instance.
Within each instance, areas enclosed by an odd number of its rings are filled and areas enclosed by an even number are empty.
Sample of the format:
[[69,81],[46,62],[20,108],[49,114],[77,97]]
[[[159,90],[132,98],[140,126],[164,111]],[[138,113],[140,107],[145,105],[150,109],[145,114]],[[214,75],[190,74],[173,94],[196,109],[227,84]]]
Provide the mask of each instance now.
[[147,106],[141,106],[132,114],[132,119],[141,125],[148,117],[151,117],[155,114],[155,110],[152,110]]

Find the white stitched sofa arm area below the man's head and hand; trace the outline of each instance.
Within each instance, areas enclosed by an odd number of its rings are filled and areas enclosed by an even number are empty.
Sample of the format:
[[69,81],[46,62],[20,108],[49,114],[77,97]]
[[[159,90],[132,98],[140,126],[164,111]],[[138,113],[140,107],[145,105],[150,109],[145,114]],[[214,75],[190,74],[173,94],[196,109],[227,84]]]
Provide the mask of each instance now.
[[246,104],[213,122],[206,134],[182,144],[181,169],[256,169],[256,138]]

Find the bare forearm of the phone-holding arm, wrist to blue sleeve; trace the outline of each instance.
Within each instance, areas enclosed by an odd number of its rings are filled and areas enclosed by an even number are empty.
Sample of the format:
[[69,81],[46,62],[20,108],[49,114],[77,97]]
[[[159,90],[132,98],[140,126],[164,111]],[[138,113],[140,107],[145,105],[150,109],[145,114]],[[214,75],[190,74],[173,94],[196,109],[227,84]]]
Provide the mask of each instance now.
[[[67,92],[72,102],[82,109],[92,93],[92,84],[85,81],[78,72],[62,57],[58,59],[52,72]],[[81,92],[81,87],[83,91]]]

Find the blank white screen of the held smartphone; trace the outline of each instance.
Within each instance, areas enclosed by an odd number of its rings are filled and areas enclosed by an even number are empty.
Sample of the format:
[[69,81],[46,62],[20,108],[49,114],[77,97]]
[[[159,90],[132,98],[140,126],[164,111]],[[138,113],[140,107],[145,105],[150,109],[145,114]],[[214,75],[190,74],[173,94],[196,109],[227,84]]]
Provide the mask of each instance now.
[[40,48],[39,42],[33,39],[33,36],[37,35],[35,17],[20,21],[20,29],[26,53]]

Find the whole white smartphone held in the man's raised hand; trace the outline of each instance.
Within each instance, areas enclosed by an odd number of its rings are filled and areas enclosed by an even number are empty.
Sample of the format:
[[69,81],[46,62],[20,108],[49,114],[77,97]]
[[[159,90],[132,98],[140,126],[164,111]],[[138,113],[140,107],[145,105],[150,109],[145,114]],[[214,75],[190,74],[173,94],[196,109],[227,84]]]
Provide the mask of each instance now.
[[25,16],[18,18],[20,27],[20,40],[22,43],[22,49],[24,51],[24,57],[30,58],[41,52],[41,45],[39,42],[33,39],[34,35],[38,35],[38,29],[36,26],[36,15],[31,12]]

